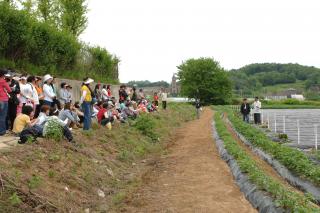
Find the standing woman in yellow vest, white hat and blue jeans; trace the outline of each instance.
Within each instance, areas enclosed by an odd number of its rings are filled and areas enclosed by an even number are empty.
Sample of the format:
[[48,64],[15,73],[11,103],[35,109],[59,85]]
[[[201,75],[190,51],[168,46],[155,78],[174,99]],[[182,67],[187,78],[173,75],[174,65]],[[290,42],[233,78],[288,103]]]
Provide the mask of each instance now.
[[90,84],[93,82],[93,79],[85,78],[81,87],[80,105],[82,105],[84,113],[83,130],[89,130],[91,127],[91,104],[93,92],[90,88]]

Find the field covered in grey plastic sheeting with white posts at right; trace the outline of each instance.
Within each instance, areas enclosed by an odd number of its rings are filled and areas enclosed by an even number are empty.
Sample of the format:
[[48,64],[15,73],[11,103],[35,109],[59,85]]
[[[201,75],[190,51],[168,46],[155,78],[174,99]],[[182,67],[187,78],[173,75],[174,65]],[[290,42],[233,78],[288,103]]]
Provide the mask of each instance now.
[[262,115],[271,131],[286,133],[296,144],[314,147],[320,139],[319,109],[265,109]]

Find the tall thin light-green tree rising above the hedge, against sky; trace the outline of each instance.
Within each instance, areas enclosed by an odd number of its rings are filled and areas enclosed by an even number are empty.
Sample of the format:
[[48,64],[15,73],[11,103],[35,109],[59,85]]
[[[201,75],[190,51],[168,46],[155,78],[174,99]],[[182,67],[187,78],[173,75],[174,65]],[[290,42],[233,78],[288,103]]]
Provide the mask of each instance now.
[[87,27],[88,5],[86,0],[59,0],[61,27],[78,37]]

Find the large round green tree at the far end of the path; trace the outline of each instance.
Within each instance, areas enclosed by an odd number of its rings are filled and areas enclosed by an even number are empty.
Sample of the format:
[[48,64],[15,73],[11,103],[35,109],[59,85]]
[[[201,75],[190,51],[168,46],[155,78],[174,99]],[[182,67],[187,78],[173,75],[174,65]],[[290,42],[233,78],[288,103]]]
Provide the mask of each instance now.
[[228,74],[212,58],[189,59],[178,66],[181,93],[204,104],[226,104],[232,86]]

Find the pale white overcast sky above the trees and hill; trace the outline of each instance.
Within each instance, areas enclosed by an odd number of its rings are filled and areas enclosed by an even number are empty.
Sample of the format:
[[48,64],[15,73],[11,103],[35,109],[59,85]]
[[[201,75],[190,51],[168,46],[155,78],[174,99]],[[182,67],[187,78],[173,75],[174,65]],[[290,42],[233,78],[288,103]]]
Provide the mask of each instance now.
[[320,67],[319,0],[89,0],[81,39],[121,59],[120,81],[170,81],[189,58]]

